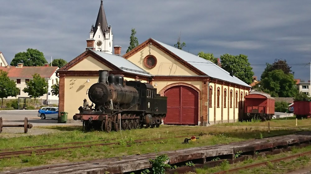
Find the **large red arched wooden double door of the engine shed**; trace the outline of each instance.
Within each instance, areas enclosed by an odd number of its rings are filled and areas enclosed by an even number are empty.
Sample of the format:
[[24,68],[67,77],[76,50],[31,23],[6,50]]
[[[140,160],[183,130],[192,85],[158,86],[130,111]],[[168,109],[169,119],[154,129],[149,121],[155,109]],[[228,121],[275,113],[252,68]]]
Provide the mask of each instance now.
[[165,124],[198,124],[198,92],[187,86],[174,86],[167,96]]

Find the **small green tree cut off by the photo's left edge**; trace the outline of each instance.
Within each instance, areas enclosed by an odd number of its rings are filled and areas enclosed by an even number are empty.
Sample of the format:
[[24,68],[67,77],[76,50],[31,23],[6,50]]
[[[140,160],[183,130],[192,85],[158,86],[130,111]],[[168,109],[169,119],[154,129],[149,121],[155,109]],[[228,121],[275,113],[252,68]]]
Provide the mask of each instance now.
[[16,87],[16,82],[10,80],[7,76],[7,72],[0,70],[0,98],[2,98],[1,108],[3,107],[3,98],[9,96],[16,97],[19,93],[19,89]]

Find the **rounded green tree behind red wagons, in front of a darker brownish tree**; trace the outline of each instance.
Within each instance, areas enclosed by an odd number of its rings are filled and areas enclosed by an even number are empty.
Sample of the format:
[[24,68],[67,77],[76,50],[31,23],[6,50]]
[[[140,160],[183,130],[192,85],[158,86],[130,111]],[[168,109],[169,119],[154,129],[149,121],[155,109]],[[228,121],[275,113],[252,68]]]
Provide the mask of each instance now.
[[259,82],[264,92],[271,97],[295,97],[298,94],[293,74],[285,74],[281,69],[267,72]]

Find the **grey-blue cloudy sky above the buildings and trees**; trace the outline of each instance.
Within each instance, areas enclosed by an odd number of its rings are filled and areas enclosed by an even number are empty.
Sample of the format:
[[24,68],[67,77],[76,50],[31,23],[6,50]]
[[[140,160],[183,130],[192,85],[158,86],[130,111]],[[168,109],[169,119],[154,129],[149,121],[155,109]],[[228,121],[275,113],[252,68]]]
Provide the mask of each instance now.
[[[0,1],[0,51],[8,63],[27,48],[50,62],[85,51],[100,0]],[[258,78],[265,63],[286,59],[295,78],[310,79],[310,0],[104,0],[113,45],[129,45],[131,28],[139,43],[154,38],[173,46],[181,33],[183,50],[245,54]]]

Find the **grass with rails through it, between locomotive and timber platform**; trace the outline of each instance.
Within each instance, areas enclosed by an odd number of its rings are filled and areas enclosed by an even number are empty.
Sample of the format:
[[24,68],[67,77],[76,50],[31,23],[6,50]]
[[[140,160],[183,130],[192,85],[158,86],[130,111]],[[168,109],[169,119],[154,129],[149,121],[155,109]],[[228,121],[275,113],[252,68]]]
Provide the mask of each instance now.
[[[274,121],[274,120],[273,120]],[[279,120],[281,124],[290,124],[293,120]],[[283,123],[283,121],[285,121]],[[272,122],[272,121],[271,121]],[[277,120],[275,121],[277,123]],[[287,122],[287,123],[286,123]],[[311,123],[310,120],[304,120],[304,124]],[[245,124],[245,123],[234,123]],[[233,125],[234,125],[233,124]],[[252,138],[262,138],[266,136],[277,135],[281,133],[292,133],[297,130],[285,128],[271,128],[268,133],[267,128],[256,127],[262,124],[261,122],[247,123],[248,128],[243,127],[219,127],[219,126],[168,126],[161,125],[160,128],[142,128],[134,130],[126,130],[120,132],[84,132],[81,131],[81,126],[51,126],[42,127],[62,130],[63,132],[43,134],[37,136],[22,136],[13,138],[0,138],[0,150],[14,147],[13,150],[18,150],[21,147],[27,146],[44,146],[53,145],[52,147],[68,146],[64,143],[68,142],[85,142],[99,141],[91,143],[108,143],[118,142],[118,145],[109,146],[91,146],[81,147],[76,149],[58,150],[53,154],[21,156],[12,159],[0,159],[0,171],[10,170],[13,168],[23,168],[30,166],[38,166],[43,164],[55,164],[65,162],[78,162],[83,160],[101,159],[120,157],[123,155],[140,155],[145,153],[156,153],[160,151],[179,150],[189,147],[209,146],[215,144],[227,144],[236,141],[245,141]],[[267,124],[265,122],[264,124]],[[277,123],[278,125],[281,125]],[[224,125],[224,124],[222,124]],[[272,124],[270,124],[272,126]],[[252,126],[252,128],[250,128]],[[175,136],[187,136],[201,134],[202,136],[197,141],[189,141],[189,144],[182,144],[186,137],[174,138]],[[205,135],[203,135],[205,134]],[[136,143],[137,139],[150,139],[150,141]],[[168,138],[160,141],[151,140],[153,138]],[[55,145],[57,144],[57,145]],[[75,145],[70,145],[75,146]],[[46,148],[49,148],[46,147]],[[299,150],[299,149],[298,149]],[[251,163],[251,161],[248,161]],[[226,163],[222,168],[228,167]]]

